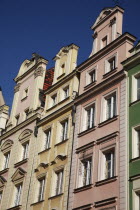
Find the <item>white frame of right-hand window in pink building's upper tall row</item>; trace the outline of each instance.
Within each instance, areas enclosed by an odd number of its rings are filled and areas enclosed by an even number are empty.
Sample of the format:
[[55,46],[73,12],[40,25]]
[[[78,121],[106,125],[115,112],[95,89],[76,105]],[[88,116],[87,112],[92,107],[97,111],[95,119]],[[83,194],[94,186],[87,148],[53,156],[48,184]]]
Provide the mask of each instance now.
[[[113,99],[111,99],[111,117],[107,118],[107,100],[111,97],[113,97],[114,95],[116,95],[116,104],[115,104],[115,115],[114,115],[114,110],[113,110]],[[108,119],[111,119],[115,116],[117,116],[118,114],[118,90],[113,90],[110,93],[105,94],[102,97],[102,101],[101,101],[101,107],[102,107],[102,112],[101,112],[101,119],[100,122],[104,122]]]

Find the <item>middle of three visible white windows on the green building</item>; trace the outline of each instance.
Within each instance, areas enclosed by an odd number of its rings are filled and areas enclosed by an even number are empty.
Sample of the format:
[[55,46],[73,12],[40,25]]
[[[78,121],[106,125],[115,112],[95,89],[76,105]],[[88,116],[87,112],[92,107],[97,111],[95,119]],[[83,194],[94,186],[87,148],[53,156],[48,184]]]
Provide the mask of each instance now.
[[140,127],[132,130],[132,158],[140,157]]

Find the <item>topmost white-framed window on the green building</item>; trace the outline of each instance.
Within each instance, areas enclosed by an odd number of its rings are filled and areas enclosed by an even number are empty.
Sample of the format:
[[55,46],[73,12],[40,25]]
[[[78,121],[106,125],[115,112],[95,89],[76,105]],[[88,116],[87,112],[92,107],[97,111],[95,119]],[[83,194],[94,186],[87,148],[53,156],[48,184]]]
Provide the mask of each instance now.
[[[131,102],[137,101],[138,98],[138,88],[137,88],[137,79],[140,79],[140,72],[134,74],[132,76],[132,93],[131,93]],[[136,91],[137,90],[137,91]]]

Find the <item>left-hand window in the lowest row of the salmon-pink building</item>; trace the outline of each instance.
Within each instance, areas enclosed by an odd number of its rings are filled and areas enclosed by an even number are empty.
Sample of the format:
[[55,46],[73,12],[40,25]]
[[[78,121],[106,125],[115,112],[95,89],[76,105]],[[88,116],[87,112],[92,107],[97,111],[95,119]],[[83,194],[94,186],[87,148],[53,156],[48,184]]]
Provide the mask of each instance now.
[[92,164],[91,158],[80,161],[78,187],[83,187],[91,184],[91,164]]

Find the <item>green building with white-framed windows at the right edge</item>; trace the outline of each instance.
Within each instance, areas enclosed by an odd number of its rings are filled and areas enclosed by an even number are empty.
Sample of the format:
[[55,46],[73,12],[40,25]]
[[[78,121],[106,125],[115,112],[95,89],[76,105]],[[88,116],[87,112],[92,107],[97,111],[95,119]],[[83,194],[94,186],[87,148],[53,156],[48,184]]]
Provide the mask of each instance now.
[[140,208],[140,43],[123,61],[128,74],[129,209]]

